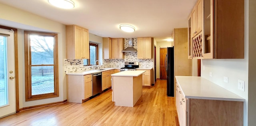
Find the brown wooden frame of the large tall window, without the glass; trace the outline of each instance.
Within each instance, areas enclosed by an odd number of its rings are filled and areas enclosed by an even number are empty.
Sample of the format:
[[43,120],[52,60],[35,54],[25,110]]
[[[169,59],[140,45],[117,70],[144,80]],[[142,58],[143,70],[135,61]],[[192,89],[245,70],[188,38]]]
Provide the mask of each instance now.
[[[37,94],[32,95],[32,80],[31,80],[31,46],[29,35],[40,35],[40,36],[52,36],[54,37],[54,63],[53,65],[36,65],[36,66],[53,66],[54,68],[54,92],[47,94]],[[33,32],[33,31],[24,31],[24,59],[25,59],[25,100],[39,100],[45,98],[54,98],[59,96],[58,89],[58,34],[56,33],[47,33],[47,32]]]

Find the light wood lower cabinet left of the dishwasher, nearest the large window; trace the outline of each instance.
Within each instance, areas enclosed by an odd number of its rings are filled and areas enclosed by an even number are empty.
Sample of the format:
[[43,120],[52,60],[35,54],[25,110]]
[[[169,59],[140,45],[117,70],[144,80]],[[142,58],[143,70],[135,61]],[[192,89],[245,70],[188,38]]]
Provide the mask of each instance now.
[[92,96],[92,74],[67,75],[68,102],[82,103]]

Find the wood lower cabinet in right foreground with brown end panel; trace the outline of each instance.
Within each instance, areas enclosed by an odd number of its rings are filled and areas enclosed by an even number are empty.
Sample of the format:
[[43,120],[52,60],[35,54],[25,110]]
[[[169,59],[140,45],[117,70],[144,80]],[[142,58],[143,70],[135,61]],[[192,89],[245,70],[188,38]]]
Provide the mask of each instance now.
[[244,102],[185,98],[177,81],[175,88],[180,126],[243,126]]

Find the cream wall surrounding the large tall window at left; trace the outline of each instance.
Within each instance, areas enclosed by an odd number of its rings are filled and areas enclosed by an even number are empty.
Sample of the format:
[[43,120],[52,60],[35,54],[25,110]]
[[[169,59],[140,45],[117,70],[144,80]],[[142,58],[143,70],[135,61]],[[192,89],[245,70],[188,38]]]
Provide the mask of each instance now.
[[[64,58],[66,58],[65,25],[4,4],[0,4],[0,12],[0,25],[18,28],[18,50],[16,51],[18,51],[20,108],[66,100],[66,76],[64,74]],[[24,30],[58,33],[59,97],[25,101]]]

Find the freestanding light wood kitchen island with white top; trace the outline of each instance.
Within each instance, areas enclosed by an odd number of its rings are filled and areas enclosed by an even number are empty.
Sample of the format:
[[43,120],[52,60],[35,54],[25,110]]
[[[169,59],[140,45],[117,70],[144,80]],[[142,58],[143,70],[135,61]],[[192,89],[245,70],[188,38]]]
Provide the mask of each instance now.
[[142,96],[142,74],[146,71],[127,70],[111,74],[112,101],[115,106],[133,107]]

